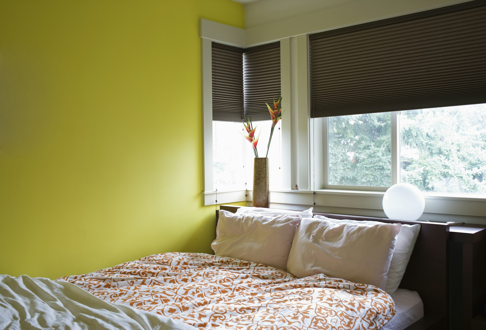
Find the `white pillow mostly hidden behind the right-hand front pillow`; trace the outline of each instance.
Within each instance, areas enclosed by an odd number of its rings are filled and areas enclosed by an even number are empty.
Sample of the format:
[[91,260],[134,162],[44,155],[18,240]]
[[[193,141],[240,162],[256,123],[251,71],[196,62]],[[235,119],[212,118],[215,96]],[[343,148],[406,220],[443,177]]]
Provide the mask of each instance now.
[[[359,221],[349,219],[331,219],[323,215],[315,215],[314,218],[330,221],[336,224],[354,223],[363,226],[374,226],[377,223],[384,223],[379,221]],[[415,242],[417,241],[420,225],[401,225],[400,232],[395,243],[395,251],[393,252],[392,261],[390,262],[390,269],[388,270],[388,281],[386,282],[385,291],[394,296],[397,291],[403,274],[407,269],[408,261],[414,251]]]

